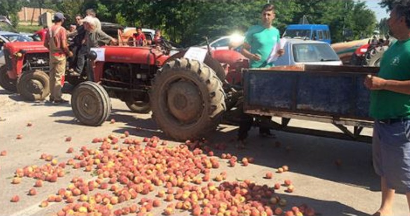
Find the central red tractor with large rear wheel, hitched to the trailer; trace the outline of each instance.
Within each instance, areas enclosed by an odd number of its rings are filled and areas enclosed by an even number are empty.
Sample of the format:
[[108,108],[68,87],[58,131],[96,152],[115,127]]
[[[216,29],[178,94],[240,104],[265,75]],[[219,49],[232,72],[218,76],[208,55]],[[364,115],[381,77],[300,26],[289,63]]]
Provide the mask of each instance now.
[[[99,126],[111,112],[109,97],[119,98],[137,112],[152,110],[158,126],[176,140],[200,139],[219,124],[222,114],[241,95],[236,85],[247,59],[232,50],[207,54],[203,61],[169,55],[170,46],[112,47],[91,52],[97,59],[94,82],[79,84],[72,92],[71,107],[85,125]],[[197,48],[200,49],[200,48]]]

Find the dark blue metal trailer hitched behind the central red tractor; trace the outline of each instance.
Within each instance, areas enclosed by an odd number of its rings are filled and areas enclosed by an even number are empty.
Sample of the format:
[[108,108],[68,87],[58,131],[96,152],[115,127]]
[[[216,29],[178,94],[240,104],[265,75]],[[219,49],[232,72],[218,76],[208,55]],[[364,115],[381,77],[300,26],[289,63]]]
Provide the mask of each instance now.
[[[370,91],[364,85],[377,67],[297,65],[243,70],[244,111],[281,117],[276,130],[371,142]],[[290,127],[290,119],[331,123],[343,133]],[[349,129],[347,126],[353,126]]]

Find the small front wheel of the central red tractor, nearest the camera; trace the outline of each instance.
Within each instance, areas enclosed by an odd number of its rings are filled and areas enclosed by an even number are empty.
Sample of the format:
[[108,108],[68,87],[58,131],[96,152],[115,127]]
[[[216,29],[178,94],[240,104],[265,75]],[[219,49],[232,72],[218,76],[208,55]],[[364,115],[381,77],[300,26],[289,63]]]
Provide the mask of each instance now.
[[80,83],[72,91],[71,108],[81,123],[100,126],[111,114],[111,101],[102,86],[87,81]]

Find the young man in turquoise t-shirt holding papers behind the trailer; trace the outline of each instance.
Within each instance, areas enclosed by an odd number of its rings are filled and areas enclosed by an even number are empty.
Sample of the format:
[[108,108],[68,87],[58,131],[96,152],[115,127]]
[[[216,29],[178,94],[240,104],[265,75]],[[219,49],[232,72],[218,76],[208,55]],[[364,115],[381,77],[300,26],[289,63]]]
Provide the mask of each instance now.
[[[279,30],[272,26],[272,21],[275,19],[275,7],[272,4],[266,4],[262,8],[261,13],[262,23],[249,28],[246,33],[244,44],[241,53],[250,59],[250,68],[265,68],[272,67],[272,62],[267,62],[267,59],[272,52],[272,49],[277,46],[280,41]],[[283,55],[283,49],[279,49],[277,54]],[[261,116],[259,134],[262,136],[273,136],[266,125],[270,117]],[[243,113],[239,123],[238,141],[243,142],[248,137],[248,131],[252,126],[253,117]]]

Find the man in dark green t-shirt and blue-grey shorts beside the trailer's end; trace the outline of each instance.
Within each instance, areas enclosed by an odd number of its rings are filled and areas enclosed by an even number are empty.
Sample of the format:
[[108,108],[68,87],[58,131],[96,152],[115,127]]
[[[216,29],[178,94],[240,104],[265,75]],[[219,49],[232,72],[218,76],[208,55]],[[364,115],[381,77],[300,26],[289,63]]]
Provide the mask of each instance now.
[[395,190],[406,193],[410,210],[410,0],[395,1],[388,19],[397,38],[384,54],[377,76],[367,76],[374,118],[373,164],[382,199],[375,216],[393,215]]

